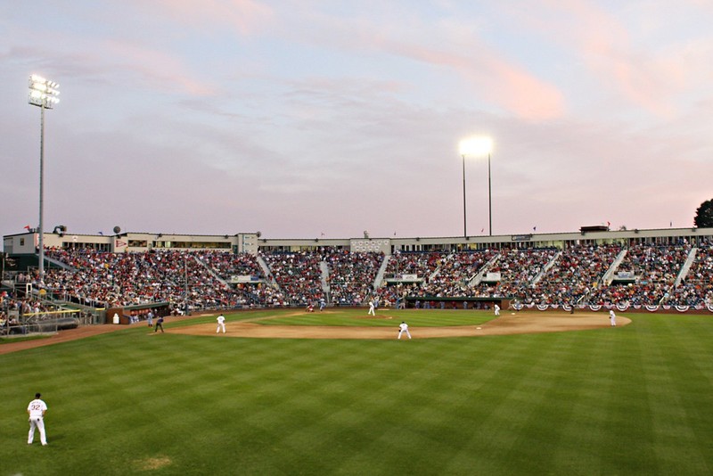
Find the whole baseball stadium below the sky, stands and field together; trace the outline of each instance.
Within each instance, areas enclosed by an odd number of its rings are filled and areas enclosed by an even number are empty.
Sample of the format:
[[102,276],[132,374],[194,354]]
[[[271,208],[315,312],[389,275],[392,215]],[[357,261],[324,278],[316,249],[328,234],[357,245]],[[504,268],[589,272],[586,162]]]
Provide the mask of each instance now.
[[[0,474],[713,468],[713,228],[57,226],[4,236],[2,278]],[[37,390],[45,448],[15,411]]]

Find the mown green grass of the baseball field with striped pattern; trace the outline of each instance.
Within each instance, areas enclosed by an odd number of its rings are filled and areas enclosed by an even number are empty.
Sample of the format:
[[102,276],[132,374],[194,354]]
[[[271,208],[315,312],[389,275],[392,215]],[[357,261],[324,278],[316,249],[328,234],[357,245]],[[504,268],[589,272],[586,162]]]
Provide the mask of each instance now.
[[[391,312],[412,329],[490,318]],[[229,329],[266,313],[226,316]],[[0,476],[713,473],[713,316],[625,316],[616,329],[413,341],[141,326],[3,355]],[[36,391],[48,447],[27,445]]]

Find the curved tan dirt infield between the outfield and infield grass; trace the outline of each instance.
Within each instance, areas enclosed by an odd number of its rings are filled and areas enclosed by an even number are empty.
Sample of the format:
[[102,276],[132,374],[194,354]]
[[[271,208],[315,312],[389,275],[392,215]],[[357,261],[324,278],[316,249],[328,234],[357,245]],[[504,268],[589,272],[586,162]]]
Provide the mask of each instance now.
[[[617,316],[617,325],[627,325],[631,320]],[[189,335],[215,335],[217,337],[247,337],[263,339],[395,339],[397,321],[389,327],[324,326],[324,325],[263,325],[250,321],[225,322],[225,334],[217,333],[217,324],[196,324],[171,329],[168,333]],[[496,317],[485,324],[457,325],[452,327],[409,327],[414,339],[442,337],[474,337],[481,335],[527,334],[537,332],[583,331],[611,327],[609,315],[518,313]],[[402,336],[402,339],[406,336]]]

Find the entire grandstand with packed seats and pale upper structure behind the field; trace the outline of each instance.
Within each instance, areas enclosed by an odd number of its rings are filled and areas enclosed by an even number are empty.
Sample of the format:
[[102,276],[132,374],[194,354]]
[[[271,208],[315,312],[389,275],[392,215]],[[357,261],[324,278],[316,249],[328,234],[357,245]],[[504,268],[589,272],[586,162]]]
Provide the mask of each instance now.
[[4,237],[2,320],[75,308],[133,322],[148,310],[332,306],[627,308],[713,312],[713,228],[459,238],[266,239],[259,233]]

